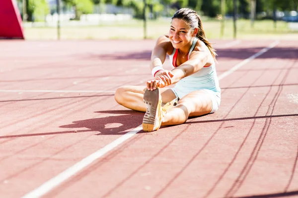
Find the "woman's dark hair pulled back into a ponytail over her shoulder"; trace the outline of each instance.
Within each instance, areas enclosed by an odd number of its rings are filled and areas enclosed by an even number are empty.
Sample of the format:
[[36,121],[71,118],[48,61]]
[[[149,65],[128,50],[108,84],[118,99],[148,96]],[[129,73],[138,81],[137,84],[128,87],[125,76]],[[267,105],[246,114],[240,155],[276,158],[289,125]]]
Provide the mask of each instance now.
[[205,45],[210,50],[213,58],[216,59],[215,58],[215,56],[217,56],[217,53],[215,52],[216,50],[212,48],[211,43],[209,43],[208,39],[206,38],[204,29],[202,26],[201,18],[196,11],[190,8],[181,8],[175,12],[172,19],[174,18],[184,20],[192,30],[194,30],[195,28],[198,28],[198,33],[196,37],[205,43]]

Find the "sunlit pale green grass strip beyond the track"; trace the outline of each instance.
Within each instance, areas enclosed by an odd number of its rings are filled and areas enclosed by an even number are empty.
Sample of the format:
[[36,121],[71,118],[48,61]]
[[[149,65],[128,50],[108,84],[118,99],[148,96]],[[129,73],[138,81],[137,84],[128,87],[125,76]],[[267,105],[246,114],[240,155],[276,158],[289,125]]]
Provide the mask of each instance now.
[[[233,22],[225,21],[224,35],[221,36],[221,21],[202,19],[206,36],[209,39],[233,39]],[[169,30],[170,19],[149,20],[147,38],[156,39]],[[24,27],[27,40],[56,40],[57,27]],[[237,20],[237,39],[288,39],[298,40],[298,30],[292,31],[288,23],[277,21],[276,28],[272,20],[255,21],[251,27],[250,20]],[[62,26],[62,40],[106,40],[106,39],[143,39],[144,22],[142,20],[105,22],[90,26]]]

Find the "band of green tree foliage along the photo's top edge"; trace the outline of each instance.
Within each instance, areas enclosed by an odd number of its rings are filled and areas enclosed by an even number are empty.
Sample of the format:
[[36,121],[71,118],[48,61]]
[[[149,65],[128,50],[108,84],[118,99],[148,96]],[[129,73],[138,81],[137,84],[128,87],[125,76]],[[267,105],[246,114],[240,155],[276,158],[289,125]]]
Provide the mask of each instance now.
[[[17,0],[22,2],[22,0]],[[47,0],[26,0],[28,20],[43,20],[49,12]],[[93,12],[94,4],[112,3],[117,6],[130,7],[134,10],[136,18],[143,18],[144,0],[62,0],[64,4],[75,10],[76,19],[81,14]],[[248,18],[251,0],[236,0],[236,12],[240,17]],[[146,0],[147,11],[157,16],[171,16],[181,7],[190,7],[201,15],[215,17],[221,14],[221,0]],[[256,12],[266,12],[272,15],[273,10],[291,11],[298,10],[298,0],[257,0]],[[225,10],[228,15],[233,11],[233,0],[225,0]]]

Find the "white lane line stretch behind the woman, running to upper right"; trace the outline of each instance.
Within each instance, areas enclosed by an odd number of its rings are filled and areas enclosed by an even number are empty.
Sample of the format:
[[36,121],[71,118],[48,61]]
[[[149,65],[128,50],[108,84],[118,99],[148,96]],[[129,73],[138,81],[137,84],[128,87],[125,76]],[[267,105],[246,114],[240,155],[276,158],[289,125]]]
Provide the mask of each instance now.
[[219,80],[222,80],[224,77],[226,77],[227,75],[230,75],[231,73],[233,73],[234,71],[236,71],[237,69],[239,69],[240,67],[242,67],[243,65],[245,65],[246,63],[248,63],[249,61],[251,61],[252,59],[255,59],[256,57],[262,55],[263,53],[265,53],[266,51],[268,51],[269,49],[274,48],[276,45],[279,44],[280,41],[275,41],[274,43],[270,44],[267,48],[263,48],[261,49],[259,52],[253,54],[252,56],[246,58],[245,60],[241,61],[240,63],[236,64],[235,66],[233,66],[232,68],[230,68],[229,70],[227,70],[226,72],[222,73],[218,78]]

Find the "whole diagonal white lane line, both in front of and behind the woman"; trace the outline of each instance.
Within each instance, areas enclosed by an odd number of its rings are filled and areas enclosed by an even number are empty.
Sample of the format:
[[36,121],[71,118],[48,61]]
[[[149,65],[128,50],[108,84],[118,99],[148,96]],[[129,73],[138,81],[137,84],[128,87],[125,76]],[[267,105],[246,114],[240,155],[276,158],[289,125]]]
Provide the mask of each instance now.
[[[227,75],[229,75],[233,71],[235,71],[236,69],[238,69],[241,66],[243,66],[245,63],[249,62],[250,60],[252,60],[252,59],[254,59],[256,57],[258,57],[262,53],[265,53],[266,51],[268,51],[268,49],[273,48],[278,43],[279,43],[278,41],[272,43],[269,47],[262,49],[261,51],[259,51],[255,55],[252,55],[249,58],[245,59],[244,61],[240,62],[239,64],[235,65],[230,70],[228,70],[230,72],[228,72],[228,71],[227,72],[224,72],[220,76],[220,79],[223,79],[224,77],[226,77]],[[22,198],[40,198],[41,196],[43,196],[43,195],[47,194],[48,192],[50,192],[52,189],[54,189],[59,184],[63,183],[64,181],[66,181],[69,178],[71,178],[72,176],[74,176],[77,172],[79,172],[83,168],[87,167],[93,161],[95,161],[96,159],[98,159],[101,156],[103,156],[104,154],[106,154],[108,151],[112,150],[113,148],[116,148],[117,146],[119,146],[120,144],[122,144],[123,142],[125,142],[126,140],[128,140],[129,138],[131,138],[134,135],[136,135],[141,130],[142,130],[142,125],[136,127],[132,131],[124,134],[120,138],[114,140],[113,142],[111,142],[110,144],[108,144],[107,146],[105,146],[104,148],[100,148],[99,150],[97,150],[94,153],[90,154],[89,156],[87,156],[86,158],[84,158],[81,161],[77,162],[76,164],[74,164],[73,166],[71,166],[67,170],[63,171],[62,173],[60,173],[56,177],[48,180],[47,182],[45,182],[44,184],[42,184],[40,187],[38,187],[35,190],[29,192],[28,194],[26,194]]]

